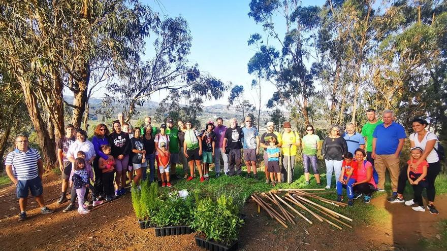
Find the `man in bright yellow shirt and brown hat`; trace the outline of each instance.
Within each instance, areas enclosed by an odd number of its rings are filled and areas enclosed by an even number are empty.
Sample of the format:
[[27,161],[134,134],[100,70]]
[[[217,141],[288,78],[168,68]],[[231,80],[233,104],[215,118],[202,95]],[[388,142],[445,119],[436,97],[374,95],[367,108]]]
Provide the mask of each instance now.
[[[282,133],[282,169],[281,180],[289,184],[293,181],[295,168],[295,156],[297,155],[297,146],[300,146],[300,136],[292,130],[290,122],[284,122],[284,132]],[[289,171],[290,170],[290,171]]]

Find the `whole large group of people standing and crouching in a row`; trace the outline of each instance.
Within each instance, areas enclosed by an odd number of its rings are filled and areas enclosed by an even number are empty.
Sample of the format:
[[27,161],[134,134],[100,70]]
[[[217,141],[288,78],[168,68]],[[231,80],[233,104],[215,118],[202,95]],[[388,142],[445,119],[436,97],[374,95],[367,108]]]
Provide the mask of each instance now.
[[[394,113],[386,110],[382,121],[376,111],[366,112],[368,122],[361,133],[356,125],[348,123],[346,131],[332,126],[329,135],[321,139],[312,125],[305,127],[300,138],[290,122],[283,123],[283,132],[275,131],[273,122],[267,123],[267,131],[260,135],[252,126],[250,117],[244,118],[243,127],[234,118],[225,126],[222,118],[209,121],[204,130],[198,131],[187,121],[168,119],[159,128],[151,125],[151,118],[144,118],[144,125],[132,127],[124,122],[124,116],[112,123],[112,132],[106,124],[98,124],[91,141],[87,134],[73,125],[65,127],[65,136],[56,142],[57,159],[61,171],[62,187],[57,203],[65,203],[67,192],[71,194],[64,212],[74,210],[78,198],[78,212],[89,212],[88,194],[92,206],[113,200],[126,193],[125,187],[134,184],[140,188],[141,180],[158,182],[161,187],[171,187],[179,179],[176,166],[182,166],[183,178],[200,182],[210,179],[210,164],[214,164],[215,177],[241,175],[245,162],[247,177],[259,179],[257,162],[260,149],[264,151],[265,182],[292,183],[298,149],[301,149],[306,185],[310,184],[310,167],[317,185],[321,184],[317,153],[321,150],[326,164],[326,189],[332,186],[335,173],[337,200],[342,201],[346,189],[348,205],[363,196],[369,203],[374,192],[385,191],[385,173],[391,176],[393,195],[391,203],[405,202],[413,210],[425,211],[422,190],[427,189],[427,209],[437,214],[434,206],[434,181],[440,171],[437,154],[437,136],[427,131],[427,121],[417,118],[412,122],[414,133],[409,136],[411,145],[408,168],[400,169],[400,153],[406,138],[402,125],[394,122]],[[155,165],[156,163],[156,165]],[[36,197],[42,213],[51,213],[43,200],[43,166],[38,151],[28,148],[28,138],[19,135],[16,148],[6,158],[6,170],[17,186],[20,204],[19,220],[26,219],[28,190]],[[221,168],[223,164],[223,170]],[[155,167],[156,166],[156,167]],[[149,167],[149,168],[148,168]],[[149,172],[149,177],[147,174]],[[91,181],[91,182],[90,182]],[[405,201],[403,190],[409,183],[414,198]],[[70,190],[69,190],[70,189]]]

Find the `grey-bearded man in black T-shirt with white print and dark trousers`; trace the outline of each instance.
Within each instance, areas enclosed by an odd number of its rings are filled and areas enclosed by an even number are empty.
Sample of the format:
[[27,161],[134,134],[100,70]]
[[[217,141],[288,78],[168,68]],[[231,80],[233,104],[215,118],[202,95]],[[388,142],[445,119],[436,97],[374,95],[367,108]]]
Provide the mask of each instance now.
[[[230,128],[225,131],[225,137],[223,138],[222,146],[225,147],[225,153],[228,154],[228,173],[227,175],[233,176],[235,174],[240,175],[242,172],[242,138],[244,133],[242,129],[237,126],[235,118],[230,119]],[[236,168],[236,172],[235,172]]]

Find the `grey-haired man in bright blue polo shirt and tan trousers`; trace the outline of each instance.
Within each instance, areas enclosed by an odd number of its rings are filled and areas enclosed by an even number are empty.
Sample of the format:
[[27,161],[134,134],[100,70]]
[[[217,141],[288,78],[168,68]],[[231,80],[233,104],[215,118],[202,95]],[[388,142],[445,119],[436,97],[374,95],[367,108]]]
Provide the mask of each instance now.
[[400,170],[399,154],[407,135],[403,126],[393,122],[393,111],[385,110],[382,120],[384,123],[377,125],[372,134],[371,157],[374,159],[375,170],[379,176],[377,191],[385,191],[385,172],[388,169],[393,194],[397,194],[397,181]]

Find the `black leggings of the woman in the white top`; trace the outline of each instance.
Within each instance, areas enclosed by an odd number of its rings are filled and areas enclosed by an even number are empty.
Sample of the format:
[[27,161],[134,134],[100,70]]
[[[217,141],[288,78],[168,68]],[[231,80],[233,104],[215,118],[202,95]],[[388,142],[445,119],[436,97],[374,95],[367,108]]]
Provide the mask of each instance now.
[[[397,184],[397,193],[399,193],[399,194],[403,194],[403,191],[405,190],[405,186],[408,181],[407,168],[408,168],[408,166],[406,166],[405,168],[402,168],[402,170],[400,170],[399,182]],[[428,163],[427,176],[425,177],[425,179],[427,180],[427,184],[428,184],[428,187],[427,187],[428,201],[431,201],[431,202],[435,201],[435,195],[436,195],[435,180],[436,180],[436,176],[438,176],[440,171],[441,171],[441,163],[439,161],[433,162],[433,163]]]

